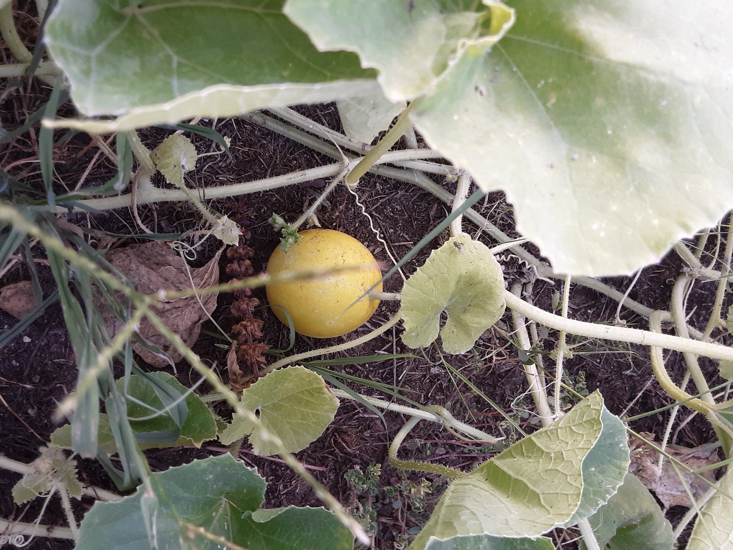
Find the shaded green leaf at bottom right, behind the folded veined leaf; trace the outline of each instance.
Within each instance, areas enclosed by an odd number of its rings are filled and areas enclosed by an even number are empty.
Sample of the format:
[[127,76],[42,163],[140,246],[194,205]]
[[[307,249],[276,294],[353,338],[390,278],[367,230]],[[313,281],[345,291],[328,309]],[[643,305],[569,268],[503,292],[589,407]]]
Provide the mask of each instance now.
[[[671,550],[674,544],[671,524],[633,474],[626,474],[619,491],[589,521],[601,548]],[[586,550],[583,541],[580,549]]]

